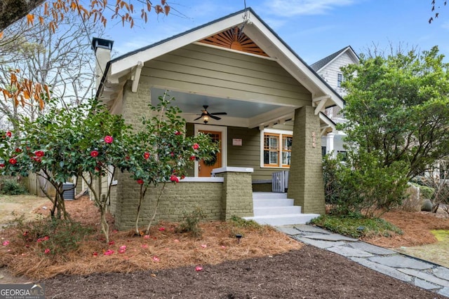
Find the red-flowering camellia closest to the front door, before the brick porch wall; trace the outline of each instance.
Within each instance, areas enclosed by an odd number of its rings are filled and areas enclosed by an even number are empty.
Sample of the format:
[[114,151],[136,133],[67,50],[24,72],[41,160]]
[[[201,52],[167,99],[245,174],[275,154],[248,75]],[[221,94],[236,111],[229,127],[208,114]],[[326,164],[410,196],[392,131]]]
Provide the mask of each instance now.
[[150,105],[151,117],[142,119],[142,130],[128,142],[126,157],[127,170],[140,185],[140,197],[135,219],[135,234],[141,235],[139,218],[142,202],[147,188],[159,186],[161,191],[156,198],[155,209],[147,226],[146,233],[156,217],[163,190],[168,182],[177,183],[184,179],[187,169],[195,160],[211,160],[218,151],[218,144],[206,134],[187,137],[185,120],[177,106],[170,106],[173,97],[166,93],[159,97],[159,103]]

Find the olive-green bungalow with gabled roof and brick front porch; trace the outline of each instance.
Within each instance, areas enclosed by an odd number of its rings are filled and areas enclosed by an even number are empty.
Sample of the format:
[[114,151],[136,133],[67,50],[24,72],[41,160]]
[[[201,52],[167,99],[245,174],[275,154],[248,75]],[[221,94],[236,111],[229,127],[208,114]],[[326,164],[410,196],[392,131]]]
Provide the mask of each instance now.
[[[221,141],[212,171],[195,162],[190,177],[166,187],[159,220],[177,221],[183,210],[197,206],[210,219],[253,216],[253,190],[262,190],[258,183],[285,169],[288,198],[304,213],[324,214],[320,137],[335,127],[322,112],[342,108],[342,98],[252,9],[113,60],[112,41],[93,39],[93,48],[97,97],[113,113],[138,126],[147,104],[170,90],[187,120],[187,134],[209,132]],[[204,105],[210,113],[227,115],[206,123],[197,119]],[[107,178],[100,190],[105,183]],[[119,228],[129,228],[138,185],[121,173],[114,184],[109,210]],[[146,204],[143,215],[150,208]]]

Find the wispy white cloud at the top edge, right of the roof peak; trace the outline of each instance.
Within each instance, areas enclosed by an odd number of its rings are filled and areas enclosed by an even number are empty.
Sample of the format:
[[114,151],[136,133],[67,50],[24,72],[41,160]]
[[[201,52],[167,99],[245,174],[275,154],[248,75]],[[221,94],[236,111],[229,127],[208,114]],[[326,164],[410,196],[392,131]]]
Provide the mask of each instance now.
[[355,0],[268,0],[264,4],[275,15],[323,15],[337,6],[354,4]]

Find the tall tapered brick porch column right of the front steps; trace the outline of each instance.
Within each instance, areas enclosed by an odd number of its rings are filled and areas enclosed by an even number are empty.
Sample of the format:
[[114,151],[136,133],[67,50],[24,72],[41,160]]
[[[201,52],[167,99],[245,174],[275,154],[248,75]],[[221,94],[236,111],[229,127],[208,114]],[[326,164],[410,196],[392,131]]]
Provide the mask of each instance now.
[[319,116],[311,106],[295,110],[288,198],[302,213],[325,213]]

